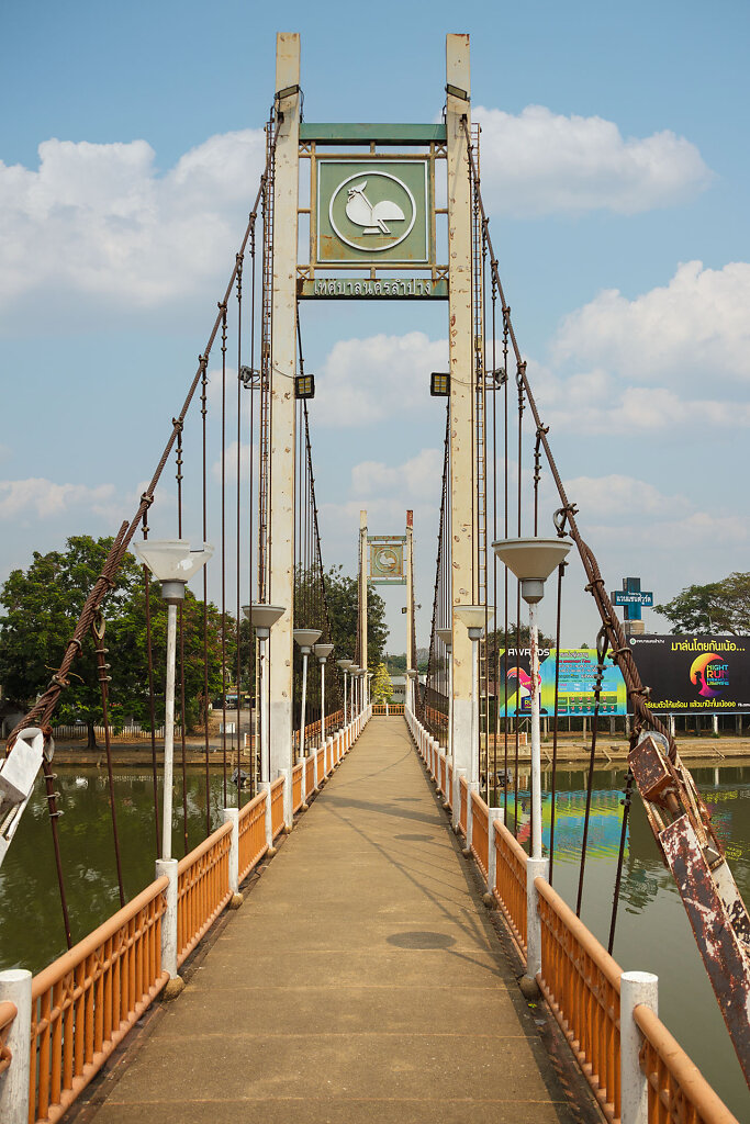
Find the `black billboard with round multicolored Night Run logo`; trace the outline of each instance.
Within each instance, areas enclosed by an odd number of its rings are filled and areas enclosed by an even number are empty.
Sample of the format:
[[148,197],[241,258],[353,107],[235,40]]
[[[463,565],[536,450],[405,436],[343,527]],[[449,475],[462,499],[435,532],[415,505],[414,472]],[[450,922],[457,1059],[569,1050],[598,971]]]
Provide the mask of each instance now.
[[750,713],[750,636],[631,636],[629,643],[652,710]]

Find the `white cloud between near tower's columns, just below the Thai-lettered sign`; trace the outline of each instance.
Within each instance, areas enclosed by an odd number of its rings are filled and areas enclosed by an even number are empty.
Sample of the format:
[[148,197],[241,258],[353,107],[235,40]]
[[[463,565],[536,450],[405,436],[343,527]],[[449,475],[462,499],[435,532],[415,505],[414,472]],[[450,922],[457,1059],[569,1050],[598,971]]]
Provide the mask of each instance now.
[[424,332],[342,339],[316,382],[319,426],[367,426],[423,405],[430,372],[445,370],[448,342]]

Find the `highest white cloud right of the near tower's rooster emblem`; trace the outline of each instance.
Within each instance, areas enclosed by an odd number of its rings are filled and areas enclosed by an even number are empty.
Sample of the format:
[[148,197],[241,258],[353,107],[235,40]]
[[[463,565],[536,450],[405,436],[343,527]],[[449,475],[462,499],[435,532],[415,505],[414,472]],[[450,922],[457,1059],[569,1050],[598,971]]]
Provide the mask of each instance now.
[[611,210],[623,215],[692,198],[711,181],[701,153],[670,130],[623,137],[602,117],[544,106],[514,116],[478,107],[481,179],[490,210],[518,216]]

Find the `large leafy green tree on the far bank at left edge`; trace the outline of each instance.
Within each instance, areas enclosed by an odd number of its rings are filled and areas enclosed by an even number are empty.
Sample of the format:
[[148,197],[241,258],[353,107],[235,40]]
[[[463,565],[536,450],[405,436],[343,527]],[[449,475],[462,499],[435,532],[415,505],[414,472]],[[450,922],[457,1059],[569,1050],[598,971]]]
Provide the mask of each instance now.
[[[0,617],[0,682],[15,703],[30,706],[45,690],[51,674],[60,667],[73,635],[88,593],[101,573],[111,547],[111,538],[94,540],[74,535],[65,551],[35,552],[28,570],[13,570],[0,590],[6,614]],[[115,587],[107,595],[102,610],[107,624],[105,646],[110,664],[108,685],[109,714],[115,728],[126,718],[150,720],[148,653],[146,643],[145,588],[143,569],[126,554]],[[155,714],[164,715],[166,661],[166,606],[157,582],[151,582],[152,652]],[[186,722],[191,725],[204,698],[204,605],[187,590],[182,608],[182,637],[178,637],[178,672],[184,647]],[[234,652],[234,620],[227,620],[227,649]],[[222,618],[208,606],[208,685],[209,696],[220,685]],[[89,731],[89,744],[96,745],[93,726],[101,720],[101,692],[92,637],[83,643],[73,663],[70,686],[63,690],[56,711],[62,722],[82,720]],[[178,709],[180,705],[178,679]]]

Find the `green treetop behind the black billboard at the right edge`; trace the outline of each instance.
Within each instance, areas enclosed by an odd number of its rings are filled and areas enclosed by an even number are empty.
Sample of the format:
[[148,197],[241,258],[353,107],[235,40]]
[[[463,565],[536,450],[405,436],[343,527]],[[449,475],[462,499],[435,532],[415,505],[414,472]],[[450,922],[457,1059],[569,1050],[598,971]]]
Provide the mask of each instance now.
[[750,573],[731,573],[722,581],[688,586],[666,605],[654,606],[672,633],[750,633]]

